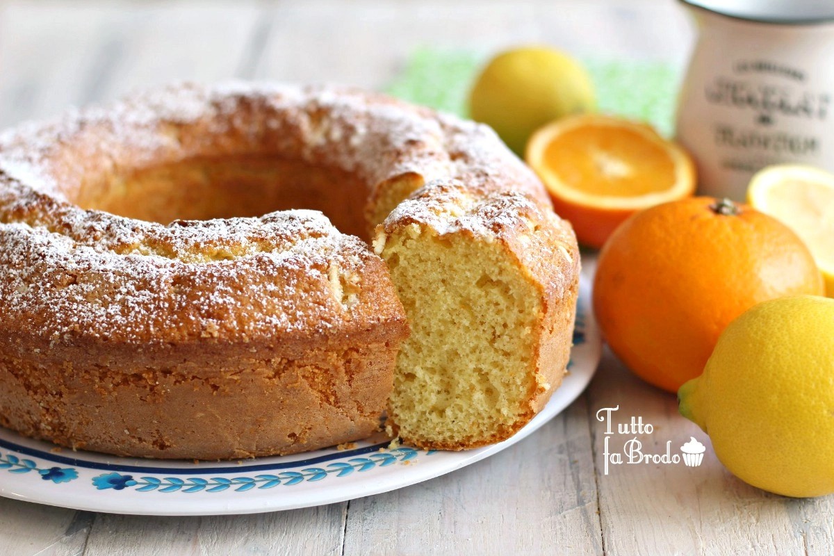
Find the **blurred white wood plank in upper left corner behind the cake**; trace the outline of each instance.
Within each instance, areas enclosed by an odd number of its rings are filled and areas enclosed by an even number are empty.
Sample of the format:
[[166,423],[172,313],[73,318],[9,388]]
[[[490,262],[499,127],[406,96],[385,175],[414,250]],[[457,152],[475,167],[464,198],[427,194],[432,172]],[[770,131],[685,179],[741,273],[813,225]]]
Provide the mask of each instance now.
[[255,3],[11,3],[0,16],[0,126],[163,83],[234,77]]

